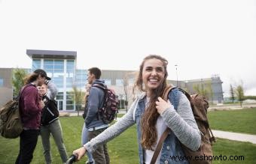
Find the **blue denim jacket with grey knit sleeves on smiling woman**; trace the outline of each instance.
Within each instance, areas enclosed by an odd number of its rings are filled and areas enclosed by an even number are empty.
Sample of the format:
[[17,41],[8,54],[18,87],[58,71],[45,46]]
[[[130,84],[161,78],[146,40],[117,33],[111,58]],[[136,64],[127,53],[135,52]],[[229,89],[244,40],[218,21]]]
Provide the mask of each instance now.
[[[197,123],[194,119],[192,110],[190,109],[187,97],[185,97],[181,91],[178,91],[178,89],[173,89],[169,93],[168,97],[175,109],[166,109],[161,114],[161,117],[163,118],[163,121],[168,124],[167,126],[172,127],[171,129],[173,132],[169,133],[169,136],[163,142],[163,148],[160,154],[160,163],[187,163],[186,160],[178,160],[178,157],[176,157],[176,160],[172,160],[171,157],[184,156],[180,142],[186,145],[187,148],[196,151],[200,147],[200,131],[198,130]],[[119,121],[111,125],[111,127],[108,127],[108,129],[100,133],[99,136],[96,136],[91,139],[90,142],[87,142],[87,144],[84,145],[84,148],[92,153],[96,150],[98,145],[114,139],[116,136],[119,136],[120,133],[123,133],[124,130],[131,127],[133,124],[136,124],[139,143],[139,160],[140,164],[143,164],[144,150],[140,144],[142,134],[140,130],[140,119],[144,112],[145,94],[142,94],[141,97],[138,97],[133,102],[126,115],[123,115]]]

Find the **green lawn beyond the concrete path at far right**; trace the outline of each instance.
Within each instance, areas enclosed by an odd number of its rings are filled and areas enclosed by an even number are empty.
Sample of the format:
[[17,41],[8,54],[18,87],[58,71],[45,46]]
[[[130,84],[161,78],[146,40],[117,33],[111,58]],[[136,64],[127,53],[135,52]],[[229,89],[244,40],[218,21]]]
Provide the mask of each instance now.
[[256,135],[256,108],[212,111],[209,112],[208,117],[213,130]]

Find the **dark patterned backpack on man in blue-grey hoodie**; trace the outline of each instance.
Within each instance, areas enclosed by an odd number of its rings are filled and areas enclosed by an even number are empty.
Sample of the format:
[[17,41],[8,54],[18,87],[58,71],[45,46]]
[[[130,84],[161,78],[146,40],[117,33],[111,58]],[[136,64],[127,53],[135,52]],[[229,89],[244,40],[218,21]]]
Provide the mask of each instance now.
[[92,87],[101,88],[104,91],[104,102],[102,108],[98,110],[98,117],[102,119],[104,124],[110,124],[115,115],[117,115],[118,100],[114,94],[114,90],[108,89],[105,85],[94,84]]

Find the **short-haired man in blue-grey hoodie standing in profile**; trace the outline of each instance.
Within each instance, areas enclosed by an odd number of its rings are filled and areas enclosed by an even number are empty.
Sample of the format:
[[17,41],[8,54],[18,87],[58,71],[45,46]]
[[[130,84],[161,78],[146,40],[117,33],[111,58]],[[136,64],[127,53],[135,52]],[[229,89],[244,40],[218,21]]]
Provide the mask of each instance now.
[[[100,79],[102,71],[98,67],[91,67],[87,71],[87,80],[91,85],[99,84],[105,86],[104,80]],[[87,127],[87,139],[90,141],[108,128],[108,124],[99,119],[99,109],[105,103],[105,92],[101,88],[92,86],[88,97],[88,112],[84,122]],[[93,153],[94,163],[110,163],[108,146],[102,143]]]

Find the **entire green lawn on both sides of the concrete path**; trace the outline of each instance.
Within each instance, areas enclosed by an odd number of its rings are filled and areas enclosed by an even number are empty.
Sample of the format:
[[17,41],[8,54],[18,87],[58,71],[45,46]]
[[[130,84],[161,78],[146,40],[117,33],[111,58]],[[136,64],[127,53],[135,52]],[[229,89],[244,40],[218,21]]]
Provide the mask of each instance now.
[[[254,118],[248,117],[251,115],[255,116],[255,109],[243,110],[240,113],[239,111],[222,111],[223,114],[227,115],[226,117],[221,115],[219,112],[209,112],[209,118],[211,121],[211,126],[213,129],[220,126],[230,127],[229,124],[216,124],[215,122],[225,121],[225,118],[236,118],[236,122],[241,124],[236,124],[238,130],[244,128],[243,121],[250,123],[251,121],[246,121],[245,118],[249,118],[254,121]],[[244,117],[236,117],[233,115],[233,112],[238,112],[238,115]],[[218,116],[220,115],[220,116]],[[218,119],[215,119],[217,117]],[[223,117],[223,118],[222,118]],[[228,121],[227,119],[226,121]],[[60,119],[62,124],[64,142],[68,151],[68,154],[72,154],[72,151],[81,146],[81,128],[83,126],[84,120],[81,117],[64,117]],[[236,123],[234,122],[234,123]],[[247,125],[248,125],[247,123]],[[215,126],[213,126],[215,125]],[[216,126],[218,125],[218,126]],[[252,126],[252,125],[250,125]],[[251,127],[252,129],[252,127]],[[253,131],[253,130],[252,130]],[[246,131],[247,132],[247,131]],[[248,132],[247,132],[248,133]],[[61,163],[59,153],[56,150],[56,146],[52,142],[52,155],[53,163]],[[14,163],[19,150],[19,139],[4,139],[0,137],[0,163],[8,164]],[[126,132],[122,133],[116,139],[113,139],[111,142],[108,142],[108,150],[111,157],[111,164],[126,164],[126,163],[139,163],[138,157],[138,144],[136,139],[136,127],[130,127]],[[215,156],[226,156],[227,160],[224,158],[215,160],[213,163],[254,163],[254,156],[256,154],[256,145],[246,143],[246,142],[233,142],[225,139],[218,139],[213,147]],[[228,158],[230,156],[243,156],[244,161],[230,161]],[[79,163],[84,163],[86,157],[81,160]],[[224,161],[225,160],[225,161]],[[44,156],[41,146],[41,138],[39,137],[38,145],[34,152],[34,158],[32,164],[44,163]]]

